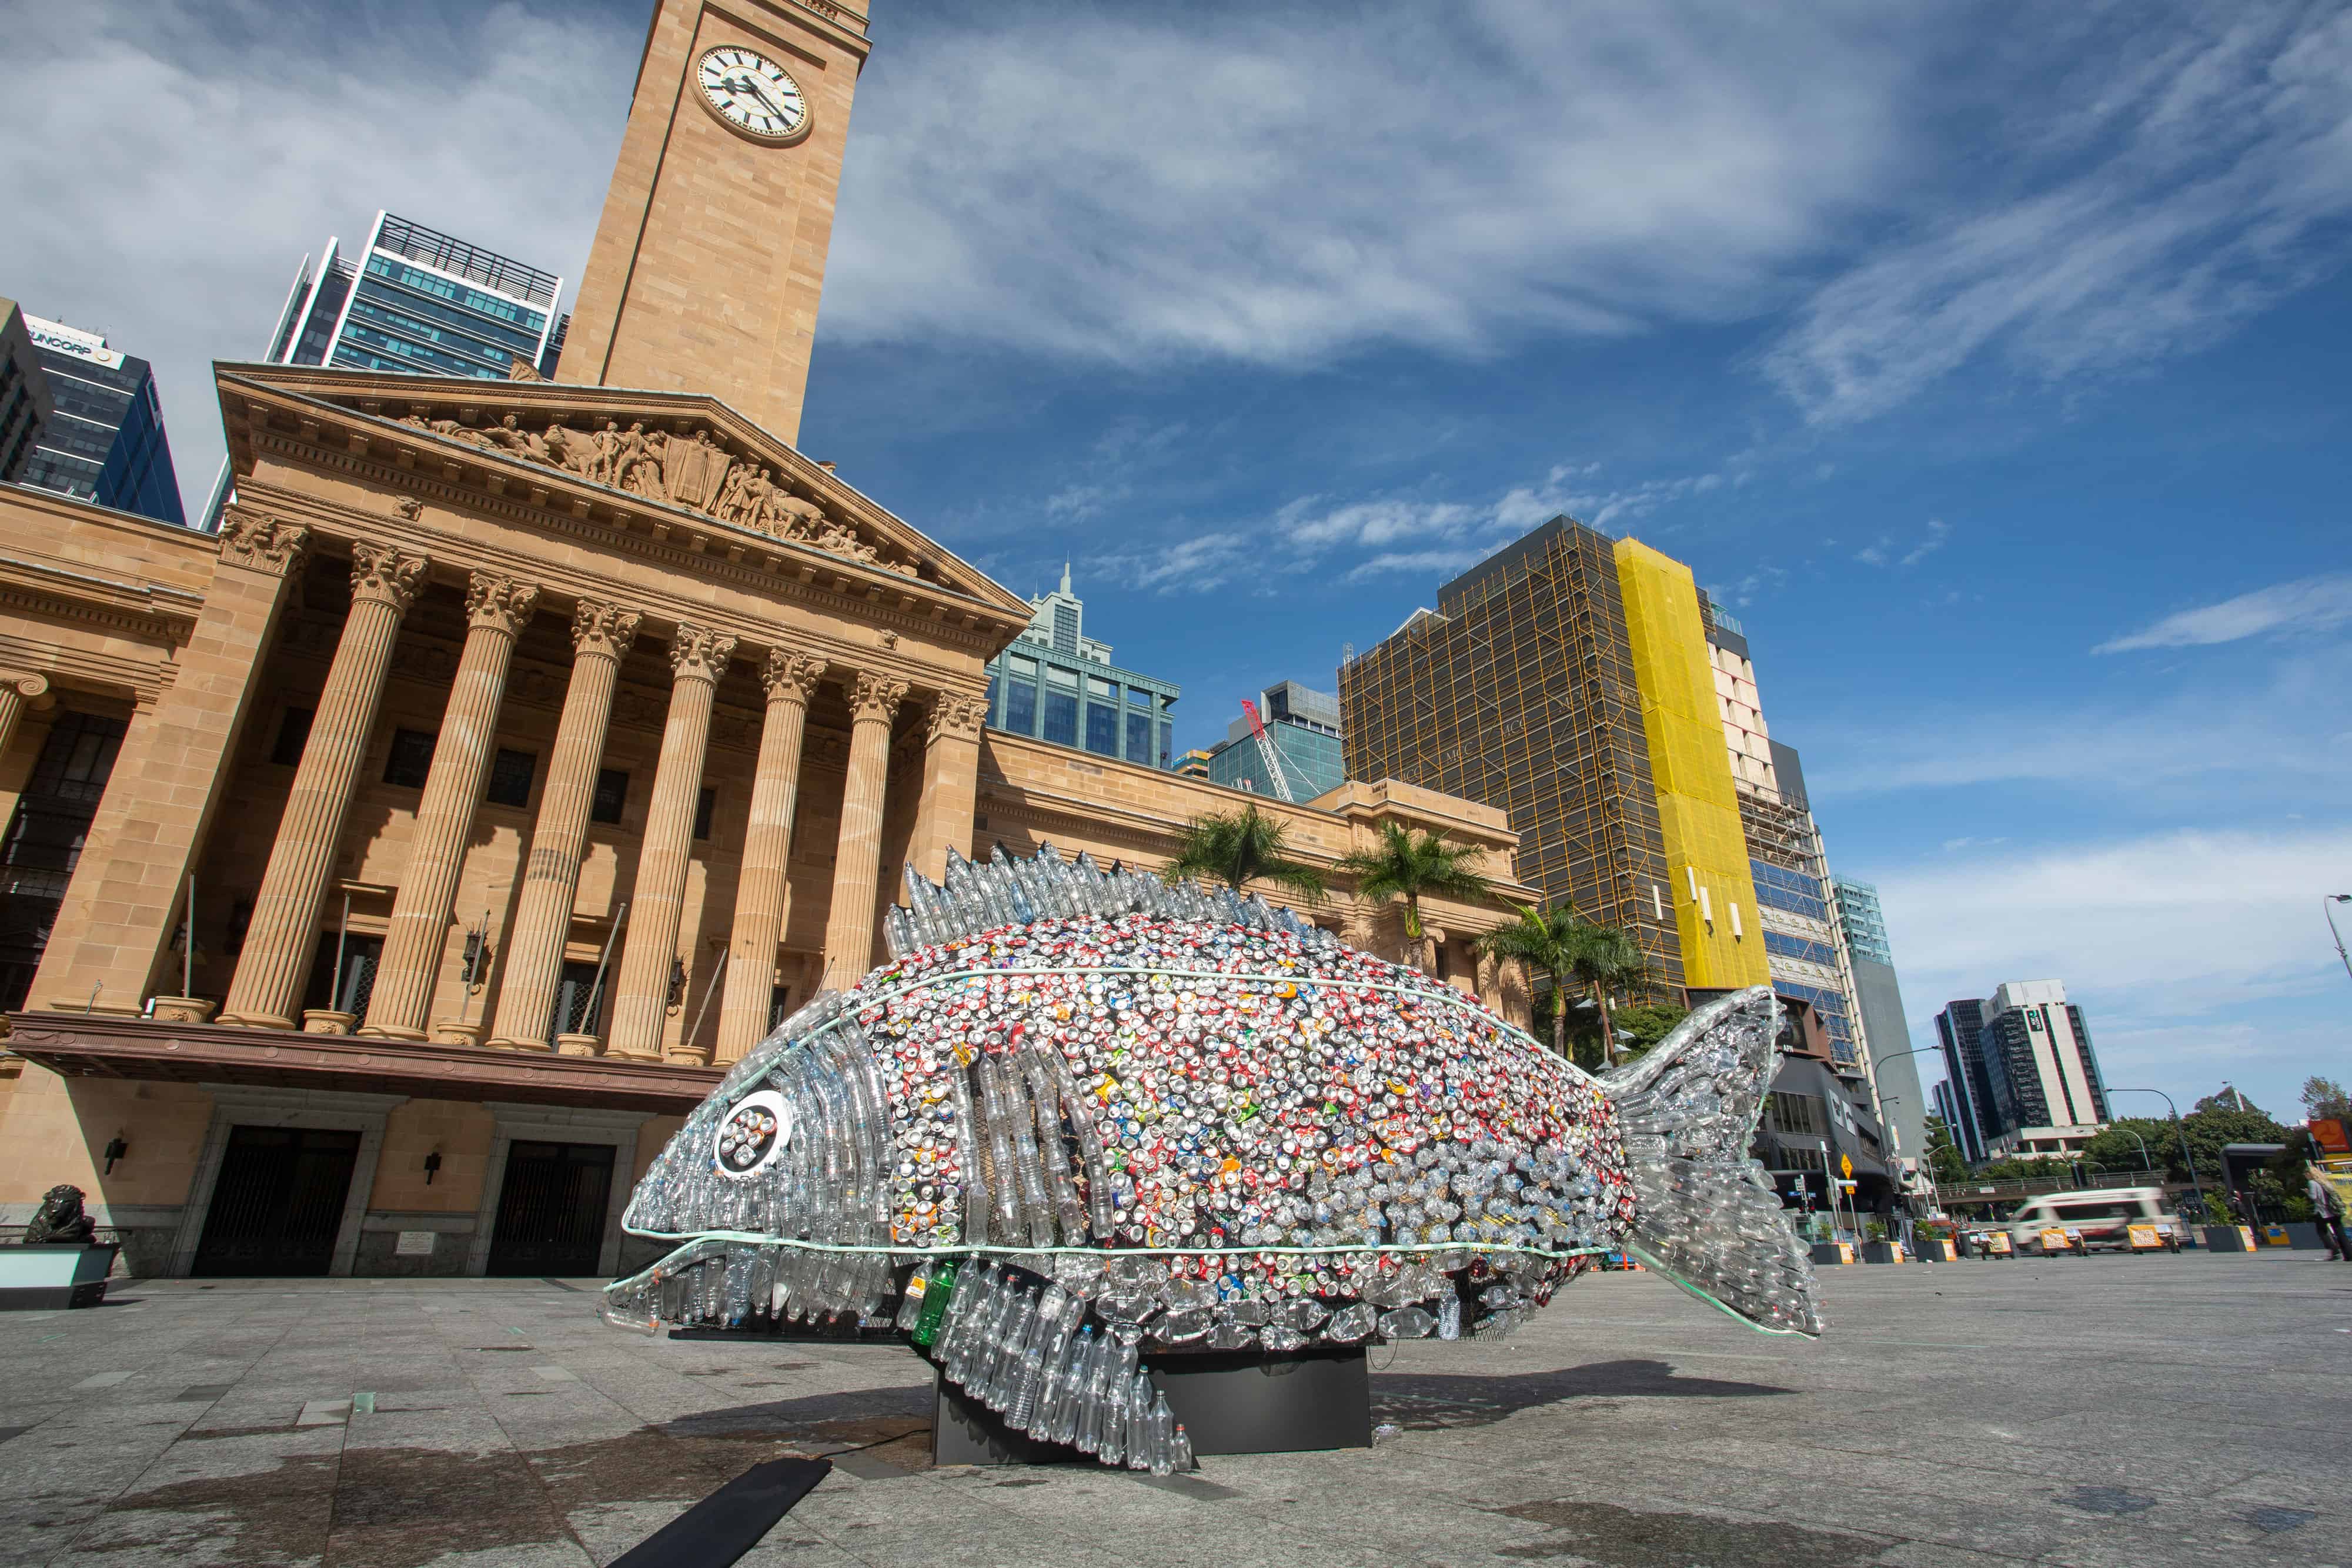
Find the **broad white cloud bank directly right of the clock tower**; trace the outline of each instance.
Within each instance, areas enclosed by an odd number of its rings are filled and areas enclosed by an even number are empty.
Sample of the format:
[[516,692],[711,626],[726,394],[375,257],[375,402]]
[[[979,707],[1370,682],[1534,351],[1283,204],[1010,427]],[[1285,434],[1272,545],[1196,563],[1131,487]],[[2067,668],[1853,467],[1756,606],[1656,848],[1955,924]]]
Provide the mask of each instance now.
[[[1296,367],[1738,320],[1905,146],[1910,63],[1846,26],[1867,14],[1000,7],[894,31],[823,329]],[[1804,92],[1762,66],[1788,59]]]

